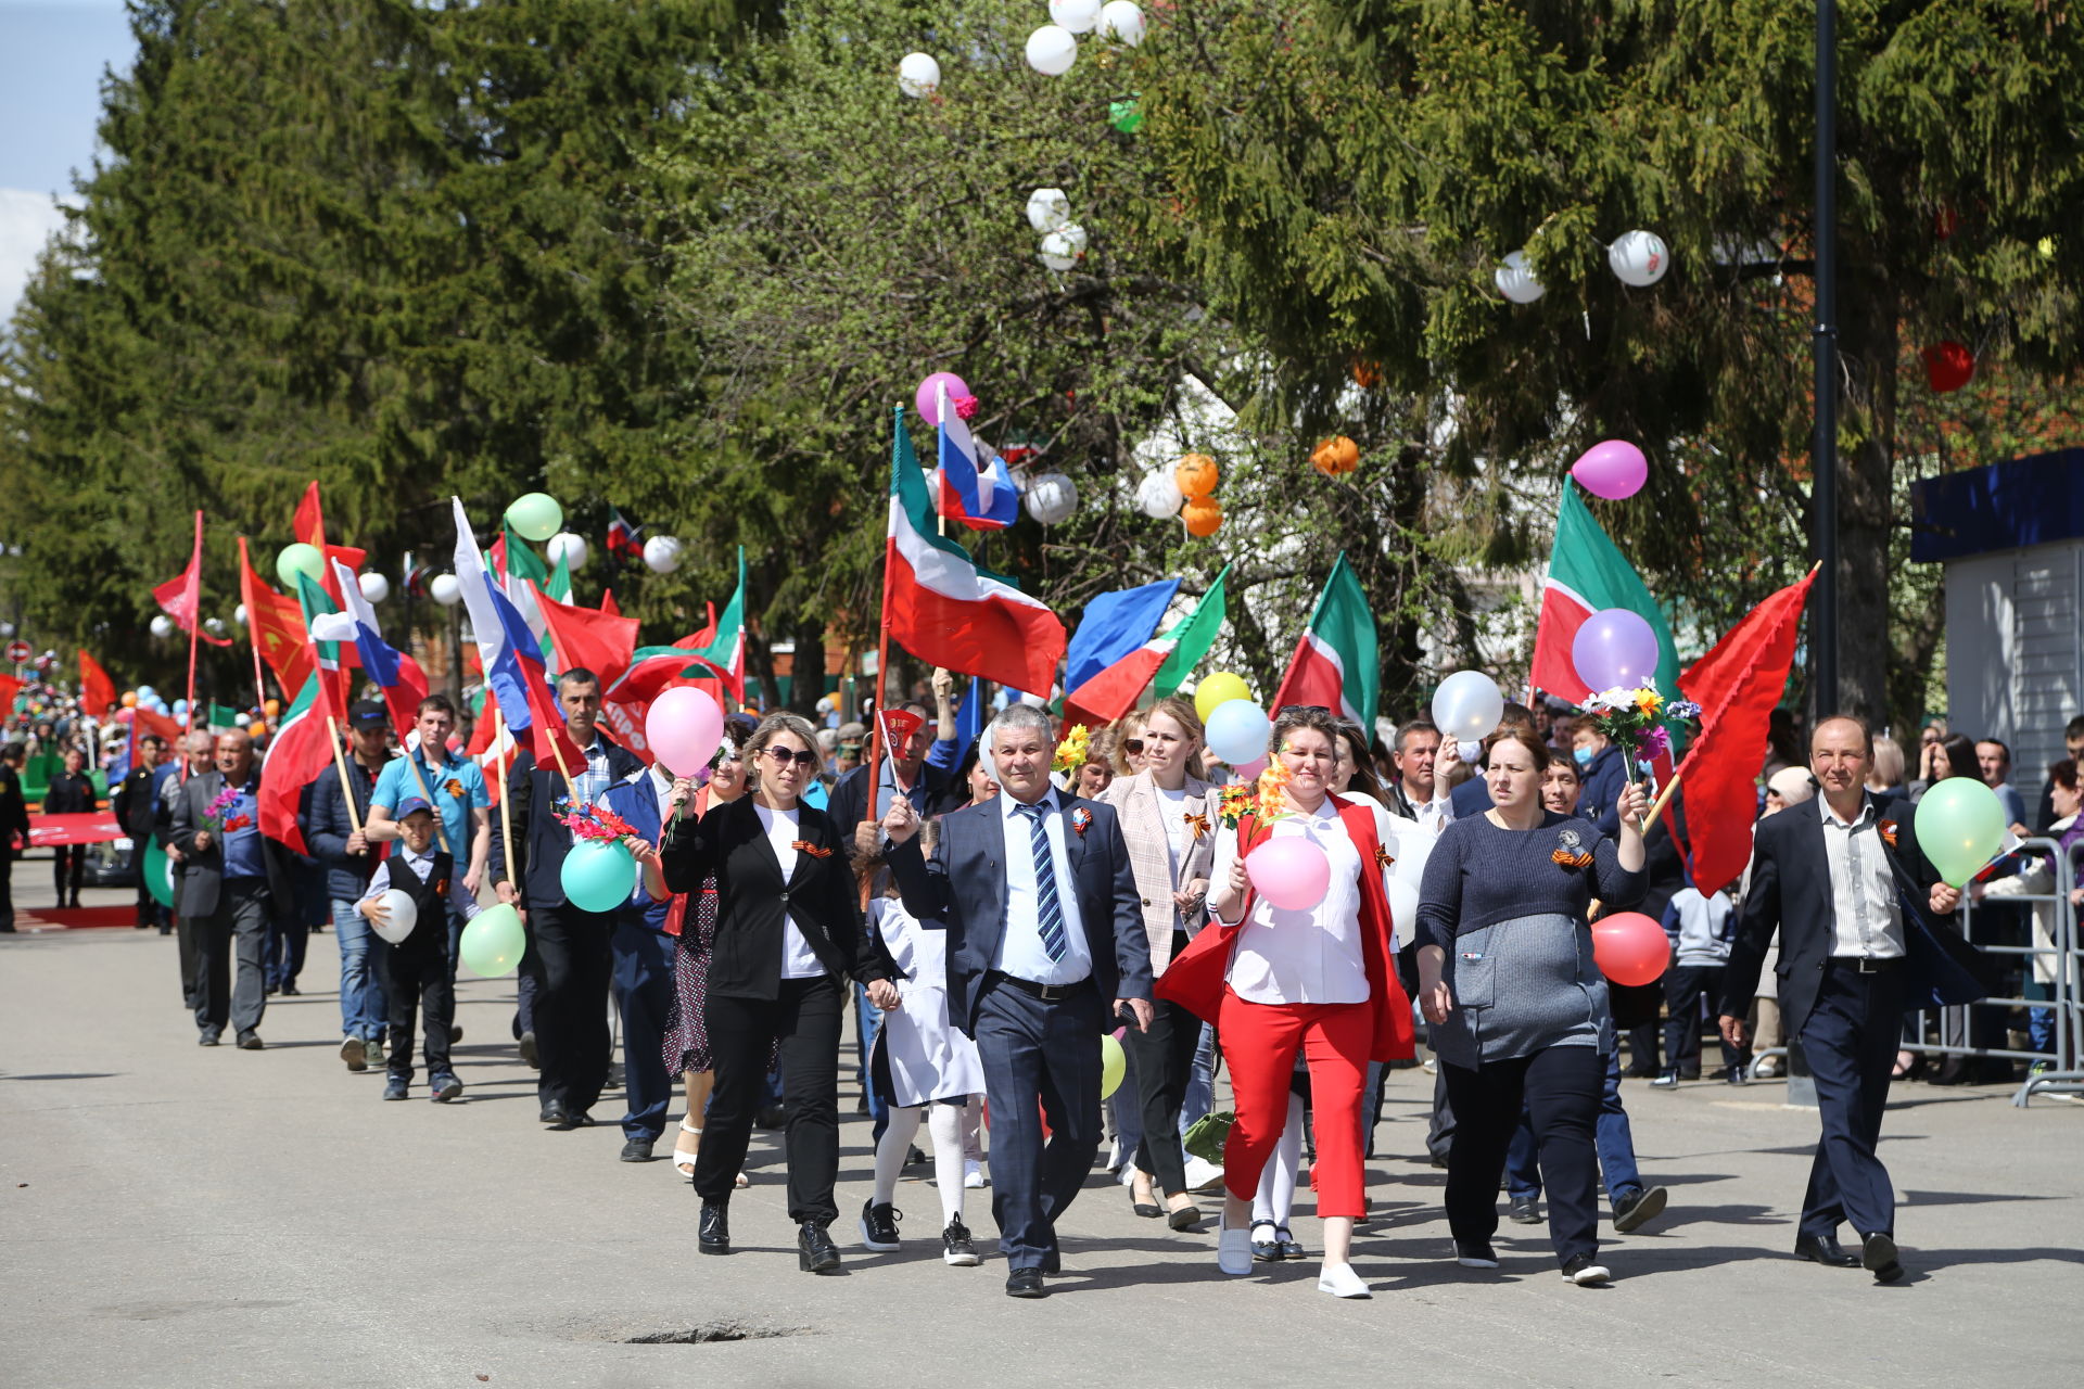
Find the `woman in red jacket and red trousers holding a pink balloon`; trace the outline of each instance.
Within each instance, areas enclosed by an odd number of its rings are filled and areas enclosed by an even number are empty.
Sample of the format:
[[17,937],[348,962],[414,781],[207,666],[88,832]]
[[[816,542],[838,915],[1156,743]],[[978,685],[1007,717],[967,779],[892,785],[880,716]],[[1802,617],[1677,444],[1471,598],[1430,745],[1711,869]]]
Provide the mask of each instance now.
[[[1353,1270],[1353,1222],[1365,1208],[1361,1089],[1369,1060],[1411,1056],[1411,1002],[1396,983],[1390,906],[1382,887],[1375,814],[1330,791],[1338,725],[1321,708],[1290,706],[1273,721],[1288,771],[1282,806],[1261,806],[1221,833],[1202,931],[1159,979],[1159,997],[1217,1025],[1238,1118],[1223,1145],[1223,1222],[1217,1266],[1252,1270],[1250,1214],[1259,1172],[1288,1120],[1288,1077],[1302,1052],[1317,1114],[1317,1214],[1323,1268],[1317,1289],[1367,1297]],[[1252,891],[1244,858],[1267,839],[1307,837],[1332,864],[1313,908],[1280,908]]]

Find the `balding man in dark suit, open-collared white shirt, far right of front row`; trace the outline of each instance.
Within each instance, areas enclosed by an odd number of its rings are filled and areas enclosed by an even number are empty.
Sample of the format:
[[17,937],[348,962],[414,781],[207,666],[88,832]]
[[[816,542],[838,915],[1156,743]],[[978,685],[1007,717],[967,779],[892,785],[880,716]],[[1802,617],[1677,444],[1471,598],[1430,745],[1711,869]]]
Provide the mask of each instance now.
[[[1961,893],[1936,881],[1911,827],[1884,820],[1865,791],[1874,737],[1834,716],[1809,739],[1815,806],[1759,820],[1751,891],[1723,975],[1721,1035],[1742,1050],[1759,966],[1780,931],[1780,1010],[1801,1037],[1817,1087],[1824,1139],[1794,1254],[1836,1268],[1865,1266],[1876,1281],[1903,1277],[1896,1197],[1876,1156],[1888,1072],[1905,1008],[1965,1004],[1984,995],[1974,952],[1934,935],[1919,914],[1953,912]],[[1957,954],[1963,952],[1963,954]],[[1838,1243],[1851,1222],[1861,1252]]]

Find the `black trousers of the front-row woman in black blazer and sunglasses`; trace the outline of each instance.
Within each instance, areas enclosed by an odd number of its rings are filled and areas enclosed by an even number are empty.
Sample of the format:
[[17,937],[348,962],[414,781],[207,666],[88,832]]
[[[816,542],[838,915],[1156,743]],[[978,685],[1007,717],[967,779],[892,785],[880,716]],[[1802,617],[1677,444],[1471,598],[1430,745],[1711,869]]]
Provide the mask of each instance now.
[[[840,1208],[840,1014],[846,989],[829,975],[784,979],[775,997],[709,995],[709,1056],[717,1087],[709,1093],[694,1191],[704,1202],[731,1199],[746,1164],[752,1116],[767,1095],[767,1054],[782,1047],[782,1097],[788,1106],[788,1218],[832,1224]],[[542,1004],[538,1004],[538,1027]]]

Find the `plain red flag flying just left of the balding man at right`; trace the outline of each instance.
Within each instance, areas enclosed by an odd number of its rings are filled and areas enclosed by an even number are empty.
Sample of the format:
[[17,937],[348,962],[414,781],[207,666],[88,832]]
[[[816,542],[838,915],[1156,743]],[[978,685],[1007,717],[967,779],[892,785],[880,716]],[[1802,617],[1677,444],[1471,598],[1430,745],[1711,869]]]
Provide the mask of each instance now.
[[1765,727],[1788,685],[1794,635],[1813,579],[1811,569],[1801,583],[1761,602],[1680,677],[1680,689],[1701,706],[1701,735],[1680,777],[1688,864],[1703,893],[1734,883],[1751,860]]

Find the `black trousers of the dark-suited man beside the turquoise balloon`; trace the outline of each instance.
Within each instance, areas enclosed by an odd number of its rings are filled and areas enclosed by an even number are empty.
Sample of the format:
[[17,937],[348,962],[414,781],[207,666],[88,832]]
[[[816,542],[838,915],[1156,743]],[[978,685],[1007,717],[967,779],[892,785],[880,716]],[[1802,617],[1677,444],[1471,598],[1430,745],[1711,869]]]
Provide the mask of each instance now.
[[536,1095],[567,1110],[594,1108],[609,1083],[609,977],[615,916],[569,906],[538,906],[527,914],[536,948],[536,1052],[542,1075]]

